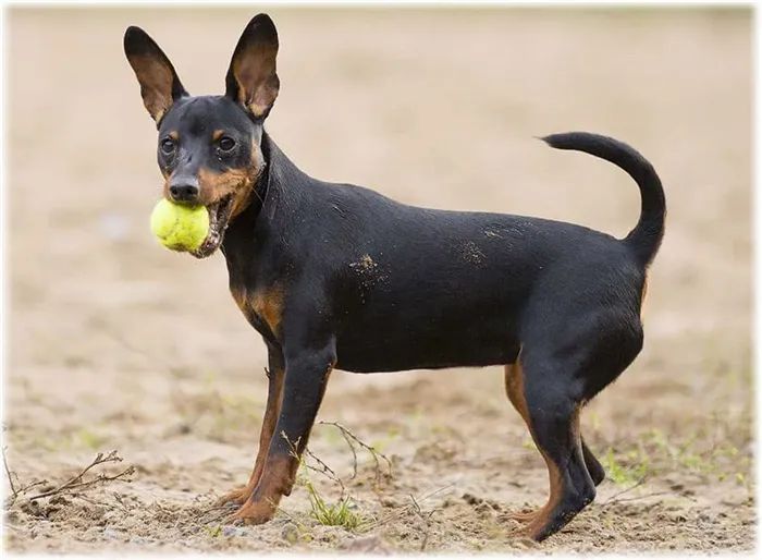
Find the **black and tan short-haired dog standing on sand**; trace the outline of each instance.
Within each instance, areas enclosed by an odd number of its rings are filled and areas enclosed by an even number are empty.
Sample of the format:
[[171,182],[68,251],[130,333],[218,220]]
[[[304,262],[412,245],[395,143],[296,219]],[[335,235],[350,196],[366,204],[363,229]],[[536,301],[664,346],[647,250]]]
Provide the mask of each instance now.
[[278,97],[278,34],[265,14],[241,37],[222,96],[189,96],[145,32],[124,49],[159,130],[164,196],[204,205],[230,290],[262,336],[269,394],[248,484],[232,519],[272,519],[294,485],[331,372],[505,365],[508,399],[548,463],[550,499],[516,514],[541,540],[595,497],[604,471],[580,434],[582,406],[642,348],[647,272],[665,200],[651,165],[589,133],[543,138],[618,166],[640,187],[635,229],[617,240],[523,216],[416,208],[318,181],[263,130]]

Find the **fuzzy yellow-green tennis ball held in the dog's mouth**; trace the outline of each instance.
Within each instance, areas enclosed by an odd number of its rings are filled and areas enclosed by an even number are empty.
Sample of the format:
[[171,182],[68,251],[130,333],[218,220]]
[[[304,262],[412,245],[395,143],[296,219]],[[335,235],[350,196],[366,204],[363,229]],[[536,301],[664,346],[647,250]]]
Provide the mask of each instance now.
[[174,251],[196,251],[209,235],[209,211],[189,208],[162,198],[151,212],[151,231],[159,242]]

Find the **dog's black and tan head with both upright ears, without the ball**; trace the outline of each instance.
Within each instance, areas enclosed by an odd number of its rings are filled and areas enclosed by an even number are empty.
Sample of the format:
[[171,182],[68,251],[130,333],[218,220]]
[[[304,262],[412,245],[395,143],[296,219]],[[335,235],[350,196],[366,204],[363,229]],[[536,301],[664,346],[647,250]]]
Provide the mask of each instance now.
[[127,28],[124,52],[159,130],[164,197],[209,211],[209,235],[193,252],[207,257],[222,243],[230,221],[257,196],[257,179],[265,169],[262,126],[280,85],[275,25],[266,14],[249,22],[233,52],[222,96],[188,95],[167,54],[139,27]]

